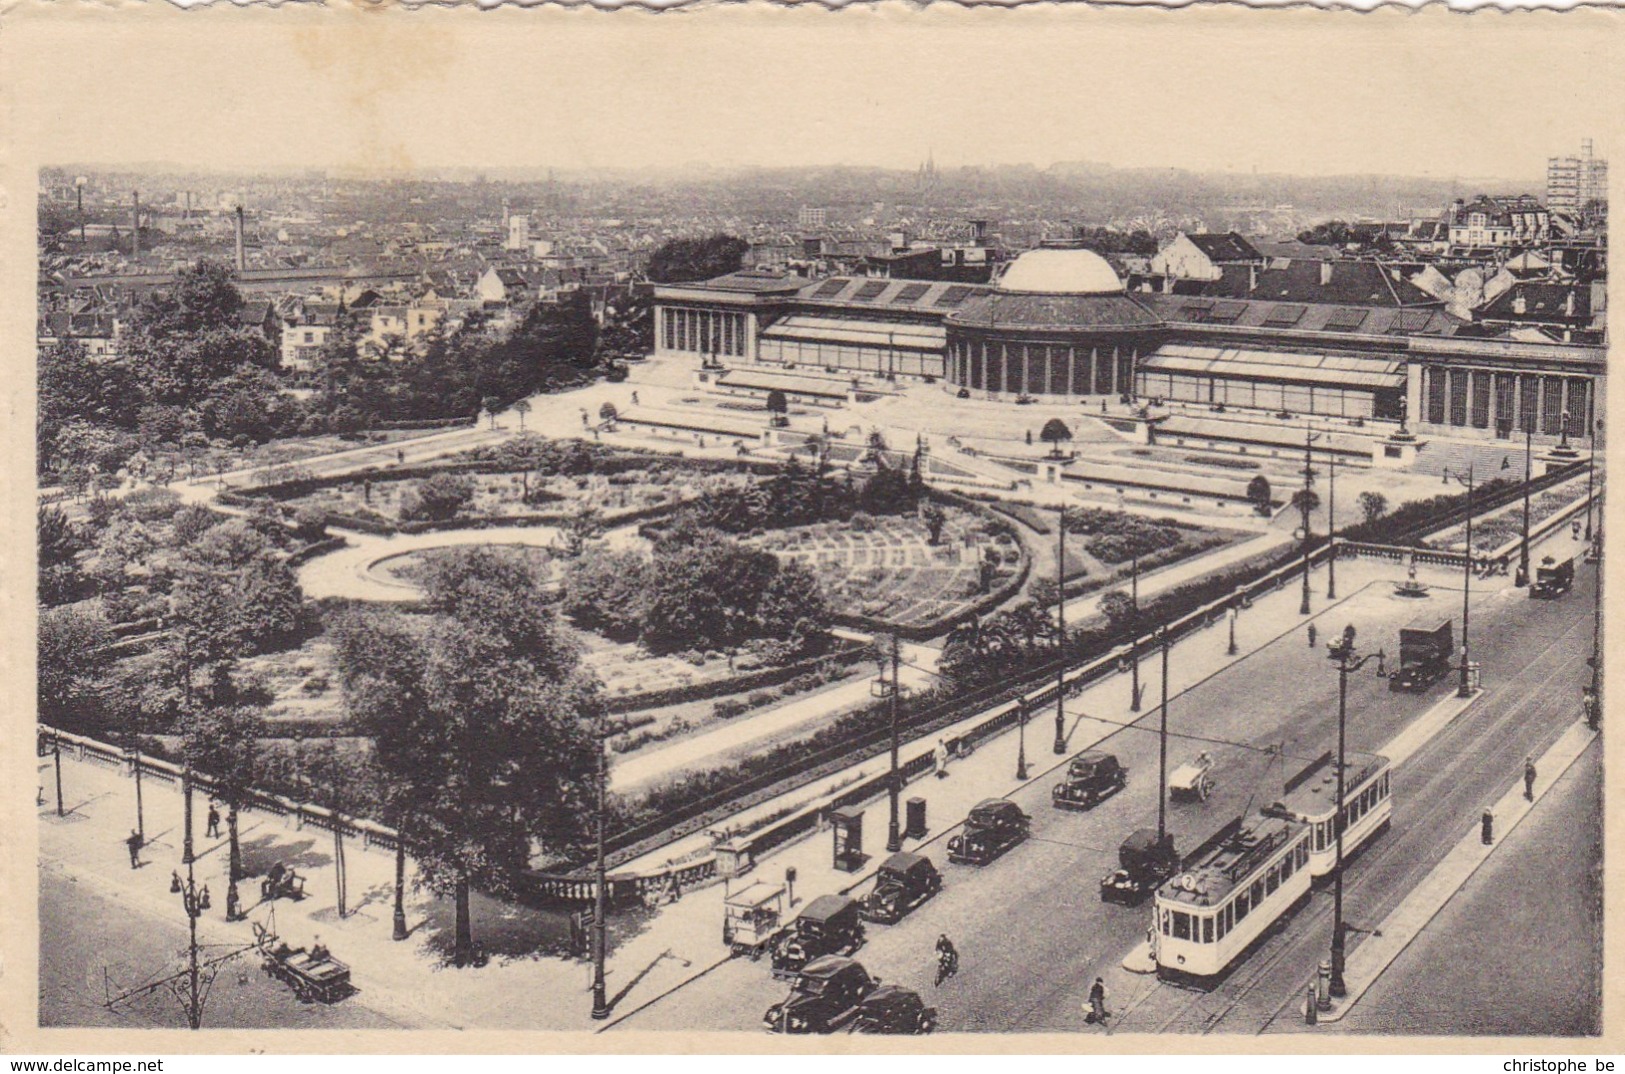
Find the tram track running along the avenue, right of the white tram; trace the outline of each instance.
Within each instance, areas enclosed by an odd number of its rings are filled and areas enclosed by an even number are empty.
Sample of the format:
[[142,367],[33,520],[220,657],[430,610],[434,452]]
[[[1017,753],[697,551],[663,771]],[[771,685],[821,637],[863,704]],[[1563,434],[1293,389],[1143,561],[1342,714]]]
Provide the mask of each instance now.
[[[1531,656],[1524,663],[1524,668],[1518,674],[1514,674],[1505,684],[1505,687],[1497,691],[1498,697],[1516,695],[1516,700],[1495,713],[1493,726],[1479,730],[1476,733],[1474,744],[1482,743],[1485,738],[1488,738],[1492,743],[1492,751],[1493,751],[1492,770],[1505,773],[1513,773],[1514,770],[1521,770],[1521,765],[1514,765],[1511,760],[1506,760],[1506,757],[1516,757],[1516,754],[1519,752],[1540,754],[1544,752],[1545,746],[1550,746],[1550,743],[1555,741],[1557,736],[1563,733],[1563,728],[1550,730],[1540,736],[1537,746],[1531,746],[1528,741],[1523,741],[1518,736],[1503,731],[1506,731],[1510,726],[1524,725],[1528,721],[1529,713],[1534,712],[1540,704],[1547,702],[1549,697],[1552,695],[1550,692],[1552,682],[1565,674],[1573,674],[1575,666],[1583,663],[1583,656],[1576,652],[1566,658],[1557,660],[1550,668],[1544,666],[1552,650],[1558,648],[1565,642],[1570,642],[1576,629],[1583,626],[1584,621],[1576,619],[1570,622],[1563,630],[1550,635],[1550,640],[1539,650],[1539,653]],[[1531,676],[1531,673],[1536,669],[1539,669],[1540,673],[1537,676]],[[1472,708],[1467,710],[1467,713],[1472,712],[1474,712]],[[1477,712],[1482,713],[1484,708],[1479,708]],[[1453,734],[1459,738],[1464,733],[1459,728],[1466,726],[1471,725],[1458,725],[1453,721],[1451,725],[1441,728],[1440,733],[1433,736],[1433,739],[1430,739],[1422,749],[1417,751],[1417,754],[1428,754],[1433,749],[1443,749],[1443,744],[1448,743],[1448,739]],[[1482,751],[1456,751],[1446,757],[1443,765],[1436,765],[1433,769],[1419,765],[1412,759],[1410,762],[1406,764],[1404,770],[1396,770],[1394,778],[1406,782],[1412,778],[1420,778],[1422,785],[1420,788],[1417,788],[1419,793],[1407,795],[1407,798],[1412,801],[1422,801],[1422,799],[1432,801],[1432,796],[1436,795],[1438,801],[1433,803],[1430,812],[1436,814],[1443,811],[1446,816],[1466,817],[1471,816],[1471,812],[1469,814],[1461,812],[1459,799],[1466,798],[1469,793],[1474,795],[1474,798],[1479,798],[1482,795],[1477,793],[1477,788],[1471,782],[1462,780],[1462,777],[1482,775],[1484,769],[1485,769],[1485,760],[1482,757]],[[1506,778],[1510,780],[1511,775],[1508,775]],[[1441,783],[1450,783],[1454,786],[1454,790],[1450,788],[1440,790]],[[1459,830],[1466,829],[1462,827]],[[1391,825],[1388,835],[1389,837],[1393,835]],[[1459,835],[1456,837],[1459,838]],[[1451,843],[1443,845],[1446,853]],[[1344,876],[1346,900],[1367,894],[1373,889],[1373,886],[1378,886],[1383,890],[1401,892],[1393,900],[1383,900],[1384,903],[1393,902],[1393,905],[1398,905],[1398,902],[1404,897],[1402,892],[1412,890],[1417,886],[1417,882],[1424,876],[1427,876],[1430,869],[1436,866],[1436,856],[1428,853],[1427,861],[1412,860],[1409,868],[1396,869],[1401,874],[1399,877],[1389,877],[1384,882],[1381,876],[1383,868],[1404,866],[1406,863],[1401,851],[1409,848],[1410,845],[1401,838],[1381,838],[1381,837],[1378,837],[1375,842],[1367,842],[1365,845],[1362,845],[1357,863],[1363,868],[1360,868],[1358,873],[1355,873],[1352,877],[1349,874]],[[1284,916],[1280,921],[1272,925],[1271,928],[1274,929],[1274,934],[1250,959],[1246,959],[1246,962],[1242,967],[1237,967],[1237,970],[1233,970],[1232,975],[1225,978],[1222,985],[1219,985],[1212,991],[1185,990],[1191,991],[1193,994],[1185,1003],[1178,1004],[1176,1009],[1172,1011],[1165,1019],[1160,1019],[1154,1027],[1144,1027],[1144,1029],[1136,1027],[1133,1032],[1165,1033],[1181,1022],[1191,1022],[1193,1020],[1191,1016],[1194,1012],[1202,1012],[1199,1025],[1194,1027],[1196,1032],[1212,1033],[1220,1030],[1220,1025],[1232,1014],[1235,1014],[1237,1009],[1256,999],[1254,993],[1264,985],[1266,978],[1269,978],[1269,975],[1282,965],[1282,962],[1289,955],[1302,957],[1305,951],[1308,951],[1313,946],[1310,936],[1315,934],[1316,931],[1315,926],[1326,926],[1332,913],[1331,905],[1328,905],[1329,900],[1316,899],[1316,895],[1320,894],[1326,894],[1326,890],[1324,889],[1311,890],[1306,895],[1305,903],[1300,903],[1290,915]],[[1316,902],[1320,902],[1320,905],[1316,905]],[[1393,905],[1381,905],[1378,913],[1386,915],[1393,908]],[[1313,959],[1311,965],[1318,962],[1320,962],[1318,959]],[[1240,977],[1238,980],[1238,975],[1245,977]],[[1118,1024],[1126,1025],[1128,1016],[1134,1014],[1136,1011],[1141,1011],[1142,1007],[1150,1004],[1155,998],[1167,994],[1168,990],[1164,988],[1146,990],[1131,1004],[1124,1006],[1120,1011]],[[1220,1009],[1204,1011],[1206,1003],[1219,994],[1224,994],[1224,999],[1220,1001],[1222,1004]],[[1263,1024],[1256,1030],[1250,1032],[1258,1032],[1258,1033],[1266,1032],[1280,1017],[1282,1011],[1295,1006],[1295,1001],[1297,1001],[1297,990],[1287,990],[1284,999],[1276,1003],[1272,1007],[1268,1007],[1268,1016],[1263,1019]],[[1131,1030],[1120,1029],[1118,1032],[1131,1032]]]

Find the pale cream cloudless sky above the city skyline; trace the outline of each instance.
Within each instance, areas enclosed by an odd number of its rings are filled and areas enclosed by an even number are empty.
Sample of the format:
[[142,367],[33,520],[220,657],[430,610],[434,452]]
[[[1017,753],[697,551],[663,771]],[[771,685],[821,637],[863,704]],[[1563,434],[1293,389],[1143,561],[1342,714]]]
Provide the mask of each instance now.
[[1606,154],[1625,71],[1575,15],[150,15],[8,28],[39,162],[1534,177],[1583,136]]

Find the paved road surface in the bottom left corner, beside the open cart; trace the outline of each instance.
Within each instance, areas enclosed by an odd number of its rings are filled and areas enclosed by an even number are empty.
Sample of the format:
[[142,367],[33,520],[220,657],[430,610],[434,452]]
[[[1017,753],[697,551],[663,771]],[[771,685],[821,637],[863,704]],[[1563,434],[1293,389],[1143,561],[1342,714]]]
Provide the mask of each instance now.
[[[185,916],[164,920],[112,897],[89,881],[41,863],[39,1024],[124,1029],[185,1029],[185,1006],[167,988],[109,1009],[109,993],[164,978],[185,967]],[[236,947],[205,947],[203,960]],[[106,978],[102,977],[106,970]],[[206,993],[205,1029],[398,1029],[359,996],[333,1006],[299,1003],[268,978],[254,952],[221,964]]]

